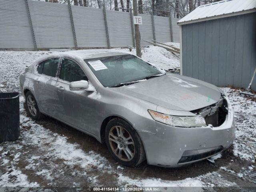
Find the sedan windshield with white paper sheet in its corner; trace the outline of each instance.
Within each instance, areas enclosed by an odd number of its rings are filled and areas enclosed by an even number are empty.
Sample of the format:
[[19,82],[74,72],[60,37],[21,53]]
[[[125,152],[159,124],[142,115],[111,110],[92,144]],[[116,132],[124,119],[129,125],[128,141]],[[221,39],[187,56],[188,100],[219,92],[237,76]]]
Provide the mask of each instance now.
[[131,55],[117,55],[84,60],[105,87],[133,84],[162,75],[154,66]]

